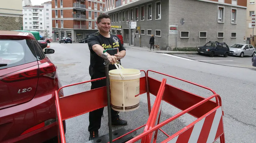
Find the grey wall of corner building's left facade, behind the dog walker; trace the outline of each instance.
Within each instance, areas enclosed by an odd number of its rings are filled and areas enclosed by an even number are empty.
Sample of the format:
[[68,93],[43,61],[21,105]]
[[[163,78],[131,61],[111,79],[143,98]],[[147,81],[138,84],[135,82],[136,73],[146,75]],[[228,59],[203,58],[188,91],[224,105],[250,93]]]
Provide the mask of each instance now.
[[[139,21],[137,21],[137,26],[140,26],[140,29],[145,30],[145,35],[139,35],[135,34],[136,37],[134,38],[134,46],[140,46],[140,40],[141,40],[141,47],[150,47],[149,45],[149,39],[151,35],[147,35],[147,30],[152,29],[152,34],[155,35],[155,30],[161,30],[161,37],[155,36],[155,44],[159,44],[161,49],[166,49],[168,47],[168,38],[169,38],[169,23],[168,23],[168,10],[169,9],[169,2],[168,1],[161,1],[161,20],[155,20],[155,2],[158,2],[159,0],[155,1],[150,1],[147,3],[143,3],[141,5],[136,5],[134,7],[129,8],[129,13],[130,9],[133,8],[133,22],[135,22],[135,8],[139,8]],[[147,4],[152,4],[152,20],[147,20]],[[144,5],[145,6],[145,21],[140,20],[140,6]],[[127,9],[123,9],[126,11]],[[123,11],[122,10],[122,11]],[[121,12],[122,12],[121,11]],[[120,11],[118,11],[119,13]],[[116,13],[116,12],[115,12]],[[111,15],[111,13],[110,13]],[[113,22],[111,25],[118,25],[122,26],[122,28],[129,28],[129,23],[128,22]],[[123,32],[123,31],[122,31]],[[135,32],[135,29],[134,29]],[[122,33],[124,36],[125,43],[127,41],[127,37],[125,36],[125,33]]]

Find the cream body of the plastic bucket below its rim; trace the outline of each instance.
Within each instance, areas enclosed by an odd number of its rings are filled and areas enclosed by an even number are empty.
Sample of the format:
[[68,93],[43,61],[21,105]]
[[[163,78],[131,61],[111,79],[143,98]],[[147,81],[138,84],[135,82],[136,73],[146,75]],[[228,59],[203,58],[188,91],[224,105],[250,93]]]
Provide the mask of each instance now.
[[110,80],[111,105],[116,111],[133,111],[139,107],[140,79]]

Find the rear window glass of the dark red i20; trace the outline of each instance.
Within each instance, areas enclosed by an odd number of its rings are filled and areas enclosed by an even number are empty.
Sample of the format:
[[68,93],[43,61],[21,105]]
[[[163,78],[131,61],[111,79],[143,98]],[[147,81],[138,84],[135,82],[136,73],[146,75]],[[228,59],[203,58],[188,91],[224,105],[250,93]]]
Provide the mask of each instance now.
[[0,39],[0,69],[37,61],[32,41],[29,39]]

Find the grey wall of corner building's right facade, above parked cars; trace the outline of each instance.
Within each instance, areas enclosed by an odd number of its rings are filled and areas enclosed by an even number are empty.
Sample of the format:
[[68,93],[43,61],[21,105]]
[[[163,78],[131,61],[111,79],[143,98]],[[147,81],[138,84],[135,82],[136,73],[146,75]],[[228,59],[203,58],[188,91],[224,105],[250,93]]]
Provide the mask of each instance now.
[[[224,23],[218,23],[218,6],[223,6],[225,11]],[[237,24],[231,24],[231,8],[237,9]],[[180,19],[185,19],[184,25],[178,25],[177,46],[196,47],[204,45],[207,41],[245,43],[244,36],[247,28],[246,9],[235,6],[220,5],[197,0],[170,0],[169,23],[180,24]],[[180,38],[180,31],[189,31],[189,38]],[[207,38],[199,38],[199,32],[207,32]],[[218,32],[224,32],[224,38],[217,38]],[[231,32],[236,32],[236,38],[230,38]],[[175,34],[169,36],[169,45],[175,47]]]

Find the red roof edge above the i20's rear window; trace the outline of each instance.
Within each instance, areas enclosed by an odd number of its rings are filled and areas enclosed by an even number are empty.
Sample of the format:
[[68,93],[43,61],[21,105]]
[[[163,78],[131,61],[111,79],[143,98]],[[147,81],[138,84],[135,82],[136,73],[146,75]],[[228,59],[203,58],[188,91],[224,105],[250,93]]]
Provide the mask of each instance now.
[[3,31],[0,30],[0,39],[32,39],[36,40],[30,32]]

